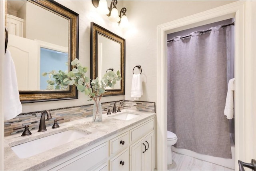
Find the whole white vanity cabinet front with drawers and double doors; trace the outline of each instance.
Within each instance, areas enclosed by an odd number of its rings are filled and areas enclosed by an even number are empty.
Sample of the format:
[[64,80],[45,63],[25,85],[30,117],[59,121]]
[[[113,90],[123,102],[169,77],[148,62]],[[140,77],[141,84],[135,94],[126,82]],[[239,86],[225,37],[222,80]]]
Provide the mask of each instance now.
[[137,123],[42,170],[154,170],[154,118]]

